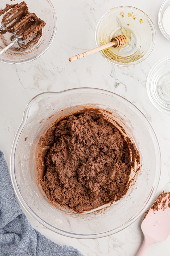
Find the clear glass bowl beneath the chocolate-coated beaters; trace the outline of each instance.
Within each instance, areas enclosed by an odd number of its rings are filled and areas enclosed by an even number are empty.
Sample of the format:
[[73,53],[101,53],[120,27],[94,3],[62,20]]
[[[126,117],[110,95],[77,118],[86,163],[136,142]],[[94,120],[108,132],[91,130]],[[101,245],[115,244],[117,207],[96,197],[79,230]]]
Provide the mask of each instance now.
[[[7,4],[20,3],[21,1],[15,0],[12,3],[10,0],[0,0],[0,9],[4,9]],[[56,34],[57,19],[54,7],[50,0],[27,0],[28,10],[30,13],[35,13],[37,17],[43,19],[46,22],[43,28],[43,35],[36,44],[31,45],[26,49],[21,49],[18,43],[15,43],[10,49],[5,53],[0,55],[0,61],[6,63],[26,63],[40,57],[45,51],[50,47],[53,42],[54,36]],[[0,23],[3,15],[0,16]],[[8,45],[11,40],[11,33],[6,33],[4,35],[0,34],[0,49],[3,49]]]

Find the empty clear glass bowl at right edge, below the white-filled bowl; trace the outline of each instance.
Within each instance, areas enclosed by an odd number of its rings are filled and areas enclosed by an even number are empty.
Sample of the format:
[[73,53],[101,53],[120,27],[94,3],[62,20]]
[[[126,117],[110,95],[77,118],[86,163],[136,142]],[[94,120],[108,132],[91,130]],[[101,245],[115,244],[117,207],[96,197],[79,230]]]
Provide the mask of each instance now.
[[158,61],[147,77],[147,92],[153,105],[170,114],[170,56]]

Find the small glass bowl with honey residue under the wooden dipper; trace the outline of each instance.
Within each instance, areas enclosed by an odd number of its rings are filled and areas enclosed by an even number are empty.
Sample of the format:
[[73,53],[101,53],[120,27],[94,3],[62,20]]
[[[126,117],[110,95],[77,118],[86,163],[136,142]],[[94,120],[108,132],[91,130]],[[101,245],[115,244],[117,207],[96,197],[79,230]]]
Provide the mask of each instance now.
[[96,27],[97,46],[109,43],[116,36],[127,37],[125,46],[109,47],[100,51],[113,64],[131,66],[148,57],[155,44],[155,27],[151,19],[132,6],[120,6],[109,10],[101,17]]

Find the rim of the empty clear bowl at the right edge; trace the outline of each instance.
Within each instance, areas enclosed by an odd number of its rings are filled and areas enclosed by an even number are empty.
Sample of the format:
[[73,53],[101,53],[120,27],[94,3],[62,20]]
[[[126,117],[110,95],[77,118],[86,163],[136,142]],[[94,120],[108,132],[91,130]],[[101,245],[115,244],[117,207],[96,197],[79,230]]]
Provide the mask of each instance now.
[[164,62],[166,61],[170,61],[170,56],[165,57],[163,59],[160,59],[158,62],[155,63],[155,65],[151,68],[151,70],[149,71],[148,77],[147,77],[147,81],[146,81],[146,88],[147,88],[147,93],[148,93],[148,97],[150,99],[150,101],[152,102],[152,104],[158,109],[160,110],[162,113],[169,115],[170,114],[170,110],[167,110],[166,108],[164,108],[161,104],[159,104],[156,101],[156,98],[154,97],[154,94],[152,93],[151,88],[155,88],[156,84],[154,85],[153,83],[151,84],[151,80],[153,75],[155,74],[155,71],[157,70],[157,68]]

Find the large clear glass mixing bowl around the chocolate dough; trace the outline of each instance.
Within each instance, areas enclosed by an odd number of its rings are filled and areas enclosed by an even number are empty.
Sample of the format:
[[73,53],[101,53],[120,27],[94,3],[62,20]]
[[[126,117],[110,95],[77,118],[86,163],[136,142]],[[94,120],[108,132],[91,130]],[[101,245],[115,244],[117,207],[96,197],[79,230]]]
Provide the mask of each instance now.
[[[36,150],[41,135],[56,119],[80,107],[107,110],[114,124],[120,124],[122,132],[136,144],[142,166],[120,201],[100,211],[75,214],[51,205],[44,195],[37,182]],[[10,159],[12,184],[25,211],[48,229],[74,238],[104,237],[134,222],[153,200],[160,169],[158,141],[141,111],[117,94],[94,88],[47,92],[34,97],[25,108]]]

